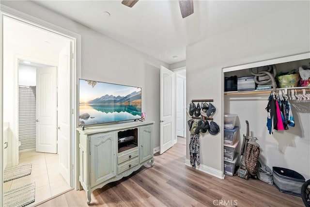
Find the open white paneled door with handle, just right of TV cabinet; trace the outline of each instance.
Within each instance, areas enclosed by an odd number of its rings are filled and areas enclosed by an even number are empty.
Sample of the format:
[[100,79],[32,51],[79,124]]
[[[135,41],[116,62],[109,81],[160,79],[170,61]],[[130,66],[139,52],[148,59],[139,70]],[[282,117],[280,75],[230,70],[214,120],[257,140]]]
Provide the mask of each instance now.
[[173,140],[175,140],[175,86],[173,76],[171,70],[160,66],[160,154],[173,146]]

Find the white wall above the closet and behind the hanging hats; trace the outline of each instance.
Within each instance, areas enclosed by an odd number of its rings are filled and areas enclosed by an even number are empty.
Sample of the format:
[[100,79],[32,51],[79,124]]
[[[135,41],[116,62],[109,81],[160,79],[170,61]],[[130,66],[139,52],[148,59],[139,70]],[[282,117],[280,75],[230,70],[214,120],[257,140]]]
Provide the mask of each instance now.
[[[221,69],[309,52],[309,37],[310,2],[296,1],[289,8],[262,16],[248,24],[186,47],[186,102],[188,103],[191,99],[213,98],[217,108],[214,120],[222,127]],[[248,114],[251,112],[248,108],[244,108],[244,111]],[[256,120],[251,120],[251,126],[256,124],[259,123],[256,123]],[[309,122],[308,126],[306,126],[307,122],[303,124],[303,127],[309,127]],[[261,136],[263,137],[264,134]],[[306,140],[309,140],[309,136],[309,133],[304,135]],[[189,132],[187,130],[187,141],[188,139]],[[262,146],[268,147],[263,150],[270,150],[271,145],[275,149],[278,147],[277,142],[274,141],[269,146]],[[201,136],[200,149],[201,163],[216,171],[222,171],[222,131],[216,136],[209,134]],[[288,150],[285,153],[288,153]],[[306,149],[301,147],[300,150]],[[305,154],[307,155],[307,153]],[[188,149],[186,159],[189,159]],[[295,160],[294,157],[287,159],[289,159],[287,163],[295,162],[294,165],[305,165],[300,159]],[[279,161],[282,162],[280,159]],[[290,167],[295,168],[291,164]],[[303,171],[304,174],[307,172],[309,171]],[[307,176],[309,177],[309,175]]]

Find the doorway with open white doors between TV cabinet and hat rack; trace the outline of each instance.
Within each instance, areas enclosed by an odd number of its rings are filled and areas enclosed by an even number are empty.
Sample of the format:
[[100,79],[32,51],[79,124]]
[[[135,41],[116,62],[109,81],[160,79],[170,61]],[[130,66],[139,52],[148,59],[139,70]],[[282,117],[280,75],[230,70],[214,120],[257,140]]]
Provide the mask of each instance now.
[[[160,139],[162,154],[178,136],[186,136],[186,68],[169,70],[160,66]],[[180,136],[180,137],[181,137]]]

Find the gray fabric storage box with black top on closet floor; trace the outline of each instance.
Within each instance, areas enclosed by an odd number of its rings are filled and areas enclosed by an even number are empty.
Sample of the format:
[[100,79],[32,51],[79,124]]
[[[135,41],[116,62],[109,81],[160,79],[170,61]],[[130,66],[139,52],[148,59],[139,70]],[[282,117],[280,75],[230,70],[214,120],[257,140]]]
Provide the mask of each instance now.
[[301,197],[301,186],[304,184],[305,177],[294,170],[273,167],[273,182],[280,192]]

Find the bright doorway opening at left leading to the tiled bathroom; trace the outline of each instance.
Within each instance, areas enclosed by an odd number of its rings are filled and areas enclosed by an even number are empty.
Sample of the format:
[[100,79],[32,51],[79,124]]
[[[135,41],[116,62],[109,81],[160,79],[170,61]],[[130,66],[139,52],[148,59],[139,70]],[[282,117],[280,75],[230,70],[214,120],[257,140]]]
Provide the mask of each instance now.
[[3,183],[3,193],[35,181],[37,204],[73,187],[75,40],[9,16],[2,28],[2,169],[31,163],[31,174]]

